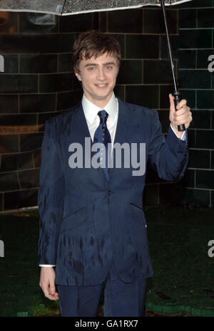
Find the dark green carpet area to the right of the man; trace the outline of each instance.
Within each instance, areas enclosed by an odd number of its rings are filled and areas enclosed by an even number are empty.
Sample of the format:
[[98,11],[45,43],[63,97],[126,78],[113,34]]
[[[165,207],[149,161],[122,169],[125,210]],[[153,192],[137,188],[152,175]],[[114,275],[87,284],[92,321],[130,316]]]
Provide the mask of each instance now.
[[147,307],[159,312],[214,316],[213,209],[156,207],[146,210],[154,277]]

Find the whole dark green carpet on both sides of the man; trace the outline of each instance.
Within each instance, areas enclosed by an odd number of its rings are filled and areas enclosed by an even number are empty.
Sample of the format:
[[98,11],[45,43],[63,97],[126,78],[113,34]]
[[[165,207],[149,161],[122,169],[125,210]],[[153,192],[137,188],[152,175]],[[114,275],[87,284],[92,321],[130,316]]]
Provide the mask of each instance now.
[[[179,206],[145,209],[154,276],[148,278],[146,308],[154,312],[189,312],[214,316],[214,210]],[[58,312],[58,304],[39,288],[37,212],[0,215],[0,316]]]

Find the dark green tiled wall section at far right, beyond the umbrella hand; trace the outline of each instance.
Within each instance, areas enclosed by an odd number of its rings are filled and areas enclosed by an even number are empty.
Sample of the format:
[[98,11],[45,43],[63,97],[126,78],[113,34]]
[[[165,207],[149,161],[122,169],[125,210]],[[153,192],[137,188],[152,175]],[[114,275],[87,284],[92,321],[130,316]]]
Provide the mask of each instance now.
[[188,203],[208,206],[214,204],[214,79],[213,72],[208,70],[209,57],[213,54],[214,58],[213,7],[212,0],[193,0],[180,5],[178,51],[180,89],[193,112],[188,169],[194,169],[195,182],[187,185],[185,199]]

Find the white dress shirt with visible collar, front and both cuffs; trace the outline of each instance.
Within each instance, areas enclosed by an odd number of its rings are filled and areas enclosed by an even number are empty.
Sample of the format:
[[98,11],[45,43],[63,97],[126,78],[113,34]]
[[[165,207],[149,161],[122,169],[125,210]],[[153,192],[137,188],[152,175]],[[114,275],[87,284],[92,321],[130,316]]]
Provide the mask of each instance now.
[[[111,100],[109,100],[108,104],[103,108],[93,105],[93,103],[91,103],[91,101],[86,99],[86,96],[83,95],[82,106],[83,106],[83,112],[86,117],[86,122],[88,125],[88,130],[91,135],[92,141],[93,141],[94,132],[96,131],[96,128],[100,124],[100,117],[98,116],[98,112],[100,110],[106,110],[106,112],[108,112],[108,118],[107,118],[106,125],[107,125],[108,131],[110,132],[110,135],[111,135],[111,143],[113,144],[115,135],[116,135],[117,122],[118,122],[118,99],[116,98],[114,93],[111,97]],[[171,129],[173,130],[172,125],[171,125]],[[173,130],[173,132],[175,133],[174,130]],[[176,133],[175,133],[175,135],[178,137],[178,135]],[[185,140],[185,131],[183,132],[182,137],[180,137],[179,139]],[[54,267],[55,265],[40,264],[39,266]]]

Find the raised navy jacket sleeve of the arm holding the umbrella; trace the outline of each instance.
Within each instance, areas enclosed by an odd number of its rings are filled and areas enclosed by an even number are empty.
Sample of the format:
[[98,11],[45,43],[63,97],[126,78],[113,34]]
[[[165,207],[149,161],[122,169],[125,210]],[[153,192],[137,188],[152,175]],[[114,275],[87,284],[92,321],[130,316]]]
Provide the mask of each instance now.
[[186,134],[186,140],[180,140],[169,126],[165,138],[158,112],[152,111],[151,116],[148,161],[161,179],[178,182],[188,164],[188,135]]

